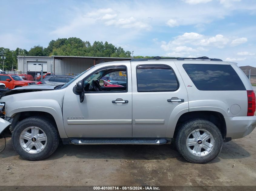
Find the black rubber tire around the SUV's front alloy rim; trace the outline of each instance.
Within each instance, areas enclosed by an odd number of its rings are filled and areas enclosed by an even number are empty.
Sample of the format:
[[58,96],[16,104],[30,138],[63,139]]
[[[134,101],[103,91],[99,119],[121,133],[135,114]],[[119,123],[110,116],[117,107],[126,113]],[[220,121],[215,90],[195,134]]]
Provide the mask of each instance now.
[[[36,126],[42,129],[47,136],[47,144],[39,153],[28,153],[19,142],[21,132],[30,126]],[[39,161],[49,157],[58,147],[59,135],[55,125],[49,119],[39,116],[32,116],[20,121],[12,132],[12,145],[20,156],[29,161]]]

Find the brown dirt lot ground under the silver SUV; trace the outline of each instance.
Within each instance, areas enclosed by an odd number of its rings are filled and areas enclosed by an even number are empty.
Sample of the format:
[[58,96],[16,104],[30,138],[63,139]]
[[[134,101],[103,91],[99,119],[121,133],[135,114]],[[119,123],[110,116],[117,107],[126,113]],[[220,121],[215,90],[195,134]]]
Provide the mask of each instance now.
[[255,137],[256,130],[224,143],[209,164],[188,163],[170,145],[61,145],[46,160],[25,161],[8,138],[0,154],[0,185],[255,186]]

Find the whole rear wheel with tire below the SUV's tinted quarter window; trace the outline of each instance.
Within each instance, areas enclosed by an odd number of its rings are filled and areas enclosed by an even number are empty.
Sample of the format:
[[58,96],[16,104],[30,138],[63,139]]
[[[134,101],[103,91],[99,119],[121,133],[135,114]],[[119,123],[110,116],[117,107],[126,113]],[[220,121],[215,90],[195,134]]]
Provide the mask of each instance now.
[[207,163],[220,153],[223,138],[218,127],[210,121],[194,119],[181,125],[175,144],[187,161]]

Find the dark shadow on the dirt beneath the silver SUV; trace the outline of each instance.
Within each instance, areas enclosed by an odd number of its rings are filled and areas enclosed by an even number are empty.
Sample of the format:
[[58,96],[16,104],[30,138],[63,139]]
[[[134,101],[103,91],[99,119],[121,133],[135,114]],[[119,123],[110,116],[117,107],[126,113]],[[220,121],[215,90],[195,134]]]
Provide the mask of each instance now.
[[[4,141],[1,140],[1,144]],[[3,148],[3,146],[1,146]],[[1,151],[2,149],[0,149]],[[6,139],[6,148],[0,153],[0,158],[16,156],[18,153],[12,147],[10,138]],[[187,162],[173,145],[62,145],[47,159],[56,160],[65,156],[75,156],[81,159],[125,159],[125,160],[166,160],[176,158]],[[250,153],[234,141],[223,144],[219,156],[211,163],[220,159],[240,159],[250,157]],[[22,159],[21,157],[18,157]],[[23,160],[23,159],[22,159]]]

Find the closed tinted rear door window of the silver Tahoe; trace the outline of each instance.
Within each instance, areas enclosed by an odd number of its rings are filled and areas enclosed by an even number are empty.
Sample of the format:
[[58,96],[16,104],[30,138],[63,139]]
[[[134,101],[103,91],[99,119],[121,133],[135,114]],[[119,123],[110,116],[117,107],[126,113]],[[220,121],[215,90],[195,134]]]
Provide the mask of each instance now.
[[136,72],[138,92],[176,91],[179,87],[168,65],[138,65]]

